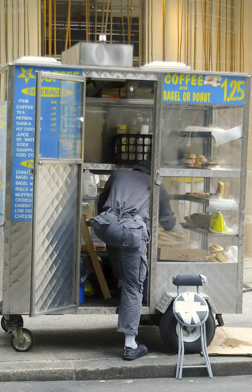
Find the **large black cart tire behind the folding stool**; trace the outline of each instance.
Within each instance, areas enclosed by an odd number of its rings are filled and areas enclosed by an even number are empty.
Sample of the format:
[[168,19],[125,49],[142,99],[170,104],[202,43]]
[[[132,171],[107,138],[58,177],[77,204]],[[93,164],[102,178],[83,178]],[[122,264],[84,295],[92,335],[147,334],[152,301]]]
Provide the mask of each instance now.
[[[173,348],[176,352],[178,352],[178,334],[176,331],[176,326],[177,320],[175,319],[175,316],[173,314],[173,304],[171,304],[161,318],[159,330],[161,338],[164,341],[165,345],[167,345],[169,348]],[[212,339],[214,338],[216,329],[214,316],[210,311],[209,317],[205,323],[205,328],[207,336],[207,346],[209,346]],[[193,332],[196,336],[198,336],[199,330],[195,329]],[[184,347],[185,353],[188,354],[201,352],[202,348],[200,336],[195,341],[185,341],[184,339]]]

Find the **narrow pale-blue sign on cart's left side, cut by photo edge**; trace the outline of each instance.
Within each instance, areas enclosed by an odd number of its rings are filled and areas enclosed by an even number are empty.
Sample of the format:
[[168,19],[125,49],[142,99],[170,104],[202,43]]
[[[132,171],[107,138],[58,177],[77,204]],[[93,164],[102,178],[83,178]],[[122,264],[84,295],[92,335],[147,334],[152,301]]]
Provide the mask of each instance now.
[[[7,102],[0,103],[0,223],[4,223],[6,183]],[[4,228],[0,228],[3,234]]]

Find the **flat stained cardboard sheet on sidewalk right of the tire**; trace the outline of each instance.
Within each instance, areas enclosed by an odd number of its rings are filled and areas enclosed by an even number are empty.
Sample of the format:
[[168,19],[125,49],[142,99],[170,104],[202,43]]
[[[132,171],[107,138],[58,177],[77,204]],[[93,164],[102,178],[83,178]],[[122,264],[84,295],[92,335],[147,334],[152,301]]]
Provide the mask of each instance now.
[[207,352],[209,355],[252,356],[252,328],[218,327]]

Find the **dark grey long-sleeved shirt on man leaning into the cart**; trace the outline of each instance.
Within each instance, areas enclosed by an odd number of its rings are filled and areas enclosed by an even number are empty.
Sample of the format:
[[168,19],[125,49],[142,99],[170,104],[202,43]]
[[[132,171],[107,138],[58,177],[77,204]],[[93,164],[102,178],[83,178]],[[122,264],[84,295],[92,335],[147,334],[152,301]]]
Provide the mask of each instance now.
[[[114,171],[99,196],[98,214],[112,208],[123,214],[138,214],[149,220],[151,176],[137,170]],[[159,223],[164,230],[175,226],[169,198],[164,186],[159,189]]]

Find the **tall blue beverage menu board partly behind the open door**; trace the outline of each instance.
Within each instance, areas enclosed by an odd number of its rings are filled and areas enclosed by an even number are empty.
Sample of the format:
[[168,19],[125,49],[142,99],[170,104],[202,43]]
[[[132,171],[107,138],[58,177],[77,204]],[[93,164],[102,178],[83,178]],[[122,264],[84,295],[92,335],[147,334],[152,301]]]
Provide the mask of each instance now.
[[[16,66],[14,83],[14,124],[13,124],[13,162],[12,162],[12,199],[11,220],[32,220],[34,127],[35,127],[35,93],[36,71],[56,74],[82,76],[81,69],[45,68]],[[62,83],[64,86],[62,87]],[[64,98],[62,98],[64,97]],[[41,122],[40,122],[40,157],[41,158],[74,158],[77,155],[77,142],[80,130],[76,124],[76,132],[62,132],[60,116],[65,105],[68,112],[75,113],[78,118],[82,112],[80,83],[62,82],[58,79],[43,78],[41,84]],[[75,119],[75,122],[77,121]],[[70,120],[69,120],[70,121]],[[65,122],[64,124],[70,125]],[[72,122],[75,124],[74,122]],[[74,129],[74,128],[72,128]],[[61,134],[67,134],[62,138]],[[72,134],[76,137],[72,137]],[[70,136],[69,136],[70,135]],[[60,140],[67,139],[62,149]],[[76,143],[72,142],[76,141]]]

